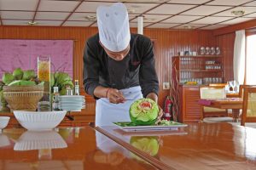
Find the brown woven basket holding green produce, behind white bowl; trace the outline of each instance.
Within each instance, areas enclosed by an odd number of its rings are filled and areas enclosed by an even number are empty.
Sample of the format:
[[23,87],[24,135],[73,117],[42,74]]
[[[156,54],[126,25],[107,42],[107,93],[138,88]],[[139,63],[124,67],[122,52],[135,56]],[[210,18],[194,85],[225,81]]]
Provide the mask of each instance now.
[[12,111],[36,111],[44,96],[44,86],[4,86],[3,98]]

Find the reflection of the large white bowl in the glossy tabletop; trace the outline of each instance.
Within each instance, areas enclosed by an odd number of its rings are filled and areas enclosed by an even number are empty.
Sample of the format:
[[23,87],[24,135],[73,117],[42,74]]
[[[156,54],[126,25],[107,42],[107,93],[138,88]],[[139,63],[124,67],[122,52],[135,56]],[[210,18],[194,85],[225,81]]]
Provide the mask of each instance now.
[[32,132],[27,131],[15,143],[14,150],[42,150],[67,148],[67,143],[55,131]]

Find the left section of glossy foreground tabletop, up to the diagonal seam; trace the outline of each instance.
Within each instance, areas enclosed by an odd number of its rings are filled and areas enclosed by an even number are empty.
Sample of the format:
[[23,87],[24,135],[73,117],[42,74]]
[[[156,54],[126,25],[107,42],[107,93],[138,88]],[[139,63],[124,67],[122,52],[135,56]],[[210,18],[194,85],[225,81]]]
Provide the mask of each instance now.
[[92,127],[57,131],[4,129],[0,133],[0,169],[156,169],[142,159],[134,159],[129,150]]

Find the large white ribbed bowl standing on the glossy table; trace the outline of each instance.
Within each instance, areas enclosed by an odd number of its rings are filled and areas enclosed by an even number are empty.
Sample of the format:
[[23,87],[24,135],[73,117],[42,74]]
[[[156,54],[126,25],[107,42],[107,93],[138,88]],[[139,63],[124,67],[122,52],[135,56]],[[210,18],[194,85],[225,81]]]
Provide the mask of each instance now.
[[46,131],[58,126],[67,111],[14,111],[22,127],[31,131]]

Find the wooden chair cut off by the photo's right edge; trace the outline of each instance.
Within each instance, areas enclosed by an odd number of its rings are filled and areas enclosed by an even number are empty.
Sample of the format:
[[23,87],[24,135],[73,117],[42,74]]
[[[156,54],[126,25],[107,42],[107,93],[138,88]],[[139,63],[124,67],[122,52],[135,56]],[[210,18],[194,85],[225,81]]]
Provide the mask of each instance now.
[[241,126],[246,122],[256,122],[256,86],[244,88]]

